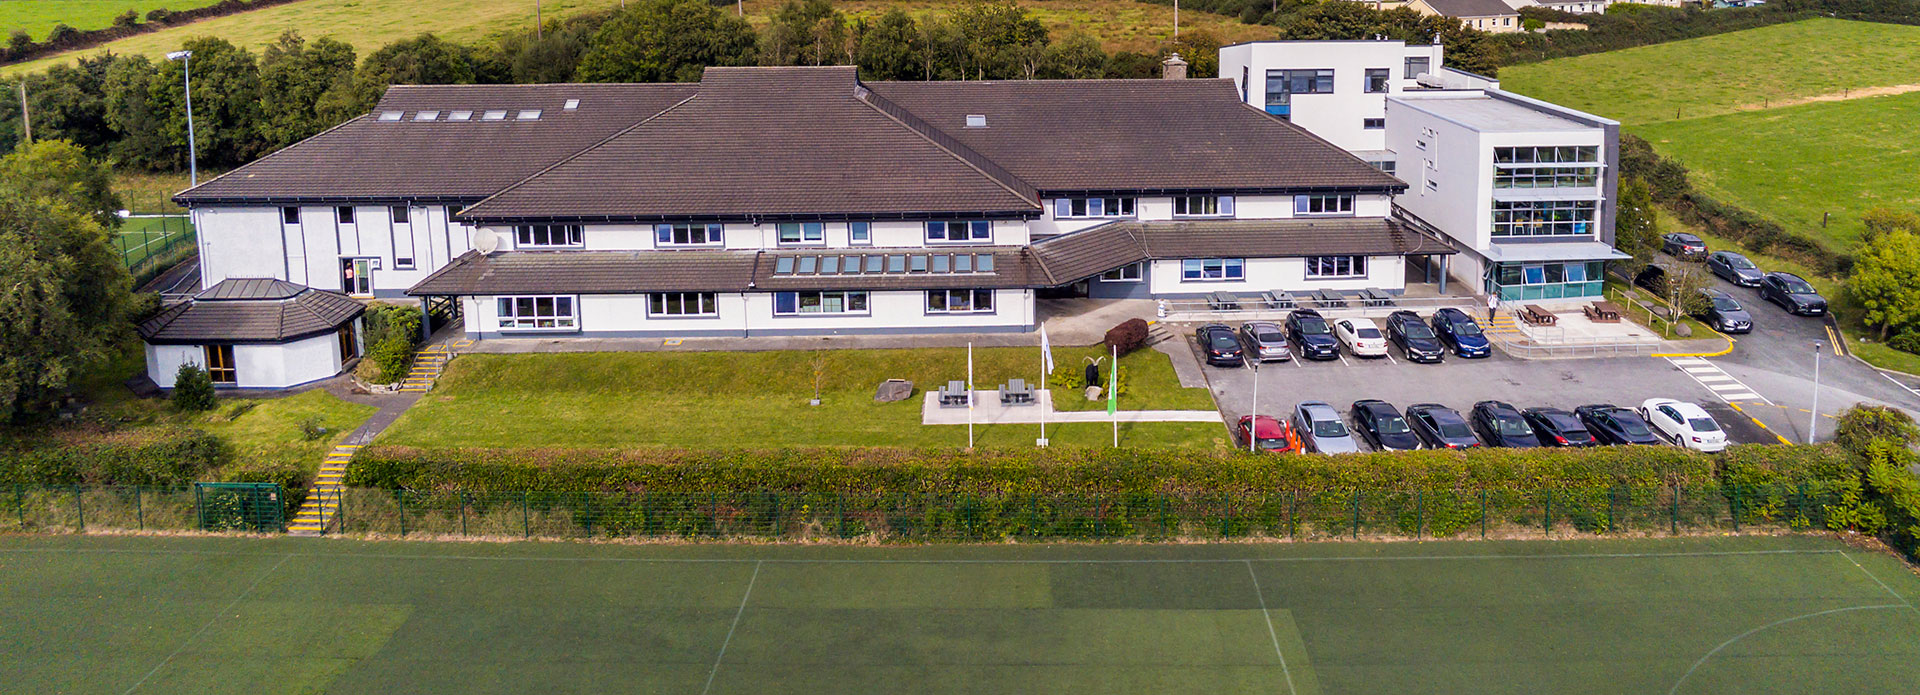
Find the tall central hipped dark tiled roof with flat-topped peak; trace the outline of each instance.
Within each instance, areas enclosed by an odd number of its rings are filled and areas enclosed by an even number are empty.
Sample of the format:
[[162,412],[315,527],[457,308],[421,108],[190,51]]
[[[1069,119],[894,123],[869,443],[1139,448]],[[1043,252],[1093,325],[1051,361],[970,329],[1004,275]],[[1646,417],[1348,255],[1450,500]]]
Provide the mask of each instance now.
[[493,198],[474,221],[1037,215],[1039,200],[858,96],[854,67],[708,67],[699,94]]

